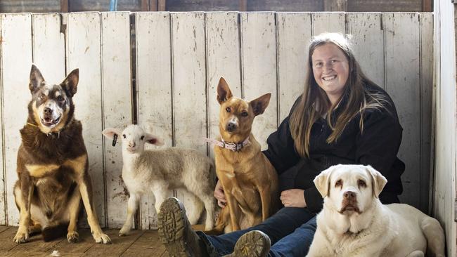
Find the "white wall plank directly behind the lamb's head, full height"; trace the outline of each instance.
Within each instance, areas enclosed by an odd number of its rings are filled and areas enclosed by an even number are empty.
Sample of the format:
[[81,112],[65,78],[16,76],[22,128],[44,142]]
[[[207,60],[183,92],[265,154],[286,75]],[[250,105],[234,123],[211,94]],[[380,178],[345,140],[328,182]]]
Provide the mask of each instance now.
[[[119,128],[132,121],[130,16],[128,12],[101,13],[101,24],[103,129]],[[122,147],[112,147],[112,140],[104,140],[107,227],[120,228],[127,215]]]

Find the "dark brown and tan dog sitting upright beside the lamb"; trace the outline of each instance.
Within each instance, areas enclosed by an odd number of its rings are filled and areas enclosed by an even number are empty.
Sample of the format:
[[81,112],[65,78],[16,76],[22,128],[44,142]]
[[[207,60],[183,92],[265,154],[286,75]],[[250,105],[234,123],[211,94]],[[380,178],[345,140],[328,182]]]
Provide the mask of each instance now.
[[27,242],[30,233],[41,232],[44,241],[65,235],[76,242],[79,205],[82,199],[87,220],[97,243],[110,244],[103,234],[92,201],[89,162],[81,122],[73,117],[72,97],[79,71],[73,70],[58,85],[47,84],[35,65],[30,71],[27,124],[20,130],[18,181],[15,203],[20,211],[16,243]]

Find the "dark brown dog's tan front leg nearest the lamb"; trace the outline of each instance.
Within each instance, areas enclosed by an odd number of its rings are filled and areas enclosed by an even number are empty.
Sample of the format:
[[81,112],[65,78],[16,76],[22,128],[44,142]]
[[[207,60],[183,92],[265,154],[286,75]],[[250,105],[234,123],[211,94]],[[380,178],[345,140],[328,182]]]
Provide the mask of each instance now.
[[[87,222],[91,227],[92,237],[94,237],[95,242],[100,244],[111,244],[111,239],[108,235],[105,235],[98,224],[98,218],[96,216],[94,201],[92,199],[92,185],[91,178],[89,174],[86,173],[82,181],[79,184],[79,192],[81,192],[82,203],[84,204],[84,209],[87,213]],[[90,194],[89,194],[90,192]]]

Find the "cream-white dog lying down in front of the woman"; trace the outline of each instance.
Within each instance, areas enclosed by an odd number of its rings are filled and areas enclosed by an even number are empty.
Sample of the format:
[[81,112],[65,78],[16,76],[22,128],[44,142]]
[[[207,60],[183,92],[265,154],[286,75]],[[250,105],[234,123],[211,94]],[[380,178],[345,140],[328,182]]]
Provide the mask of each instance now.
[[443,256],[438,220],[406,204],[381,204],[387,183],[371,166],[337,165],[316,176],[324,197],[307,256]]

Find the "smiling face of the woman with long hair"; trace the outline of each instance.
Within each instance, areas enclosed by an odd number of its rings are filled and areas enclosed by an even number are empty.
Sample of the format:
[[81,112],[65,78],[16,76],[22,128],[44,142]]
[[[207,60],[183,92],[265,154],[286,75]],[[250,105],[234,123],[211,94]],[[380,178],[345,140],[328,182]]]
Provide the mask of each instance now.
[[323,44],[314,49],[311,62],[316,83],[326,91],[330,102],[335,105],[345,90],[349,77],[349,62],[345,53],[335,44]]

